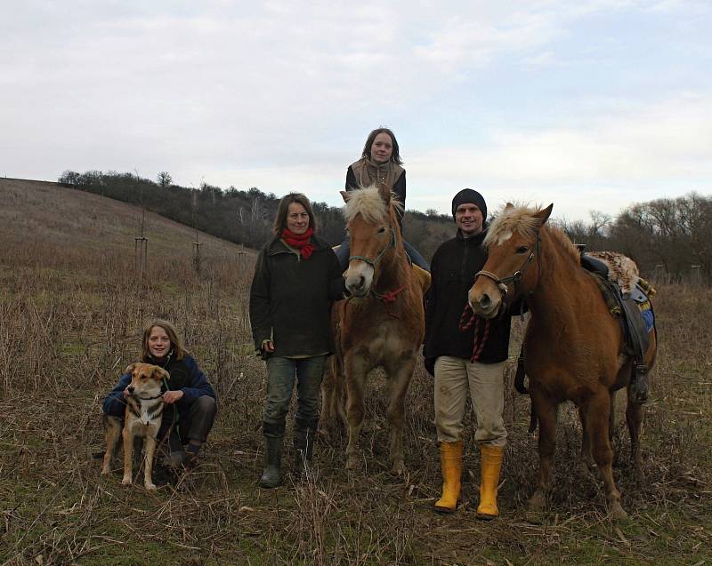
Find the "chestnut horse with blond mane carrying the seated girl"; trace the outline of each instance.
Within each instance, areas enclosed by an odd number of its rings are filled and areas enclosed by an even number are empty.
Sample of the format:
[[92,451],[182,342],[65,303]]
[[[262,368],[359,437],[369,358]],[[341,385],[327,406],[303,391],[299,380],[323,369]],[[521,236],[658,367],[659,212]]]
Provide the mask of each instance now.
[[[360,466],[358,441],[364,419],[364,391],[368,372],[381,366],[390,389],[392,471],[401,474],[404,398],[425,331],[423,286],[403,251],[396,216],[401,203],[394,199],[390,188],[378,184],[342,195],[351,239],[351,257],[344,278],[352,296],[334,306],[336,376],[332,379],[338,382],[338,373],[344,370],[346,466]],[[338,388],[339,384],[332,383],[331,387]],[[333,395],[333,391],[325,391],[325,409],[332,413]],[[336,412],[343,414],[343,410]]]

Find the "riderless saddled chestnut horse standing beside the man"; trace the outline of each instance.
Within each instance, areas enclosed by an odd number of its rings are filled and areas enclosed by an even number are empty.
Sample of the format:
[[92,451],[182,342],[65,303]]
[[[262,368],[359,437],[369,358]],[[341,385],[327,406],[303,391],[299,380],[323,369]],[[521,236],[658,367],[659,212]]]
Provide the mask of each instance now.
[[[489,259],[475,276],[469,302],[484,318],[498,315],[503,304],[522,296],[530,308],[524,338],[525,369],[532,410],[539,419],[540,466],[530,509],[540,510],[546,504],[556,411],[559,403],[570,400],[578,405],[581,418],[582,459],[588,463],[593,452],[611,516],[619,519],[626,512],[613,482],[609,418],[614,392],[627,387],[631,458],[639,470],[643,411],[630,391],[633,361],[626,354],[619,321],[611,315],[594,278],[580,267],[578,250],[561,230],[545,226],[553,207],[536,211],[507,204],[484,239]],[[649,368],[656,349],[653,331],[644,354]]]

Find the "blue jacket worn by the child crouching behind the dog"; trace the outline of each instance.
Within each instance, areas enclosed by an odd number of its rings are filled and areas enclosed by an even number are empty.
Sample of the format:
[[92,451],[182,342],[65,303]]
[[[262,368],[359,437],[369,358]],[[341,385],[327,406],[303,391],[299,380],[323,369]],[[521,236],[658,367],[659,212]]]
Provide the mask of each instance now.
[[[156,363],[154,360],[147,360],[146,363]],[[166,370],[171,378],[167,380],[168,390],[182,391],[182,399],[176,403],[178,411],[187,411],[190,405],[203,395],[208,395],[215,399],[213,386],[206,379],[205,374],[200,371],[198,363],[191,355],[185,355],[182,360],[169,358],[165,363],[156,363],[156,365]],[[101,411],[105,415],[114,417],[123,417],[125,413],[126,403],[124,401],[124,389],[131,383],[131,374],[125,373],[118,380],[117,387],[111,390],[111,393],[106,396],[104,403],[101,405]],[[165,387],[164,387],[165,388]]]

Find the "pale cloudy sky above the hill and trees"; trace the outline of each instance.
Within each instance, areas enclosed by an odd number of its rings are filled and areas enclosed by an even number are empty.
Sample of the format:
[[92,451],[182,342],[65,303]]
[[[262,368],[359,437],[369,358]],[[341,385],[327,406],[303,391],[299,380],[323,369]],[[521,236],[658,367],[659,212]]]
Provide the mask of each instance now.
[[712,1],[3,0],[0,176],[137,171],[342,204],[390,127],[406,208],[615,217],[712,194]]

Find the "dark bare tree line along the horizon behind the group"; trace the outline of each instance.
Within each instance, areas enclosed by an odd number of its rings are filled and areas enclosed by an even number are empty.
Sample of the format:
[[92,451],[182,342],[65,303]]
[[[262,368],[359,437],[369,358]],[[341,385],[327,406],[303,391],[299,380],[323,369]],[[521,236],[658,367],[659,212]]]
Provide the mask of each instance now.
[[[202,183],[200,187],[174,185],[167,171],[156,181],[116,171],[64,171],[61,185],[143,206],[168,219],[233,243],[259,249],[271,237],[272,220],[279,197],[257,187],[223,189]],[[341,209],[312,203],[319,233],[336,245],[344,239]],[[712,281],[712,197],[691,193],[635,203],[615,218],[591,211],[589,219],[559,221],[575,243],[587,250],[612,250],[635,260],[647,277],[672,281]],[[452,218],[430,210],[408,211],[403,231],[426,259],[454,234]]]

